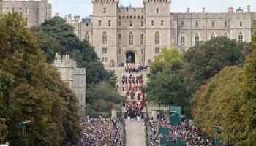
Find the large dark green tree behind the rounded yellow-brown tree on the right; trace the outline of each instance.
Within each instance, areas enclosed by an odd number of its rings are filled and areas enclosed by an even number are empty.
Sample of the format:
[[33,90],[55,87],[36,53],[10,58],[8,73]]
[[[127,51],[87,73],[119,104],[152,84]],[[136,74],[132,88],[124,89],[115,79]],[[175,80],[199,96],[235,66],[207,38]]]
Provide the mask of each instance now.
[[190,95],[225,66],[243,66],[249,44],[215,37],[190,48],[184,55],[184,82]]

